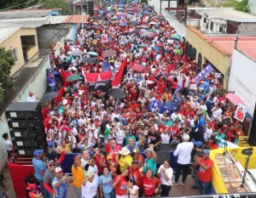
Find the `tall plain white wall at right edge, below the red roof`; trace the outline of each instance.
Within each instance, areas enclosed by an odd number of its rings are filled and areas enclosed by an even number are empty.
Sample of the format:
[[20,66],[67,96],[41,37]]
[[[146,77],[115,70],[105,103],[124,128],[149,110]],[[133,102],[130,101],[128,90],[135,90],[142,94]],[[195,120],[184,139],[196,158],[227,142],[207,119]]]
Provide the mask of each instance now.
[[234,49],[230,69],[229,90],[235,91],[253,116],[256,103],[256,62]]

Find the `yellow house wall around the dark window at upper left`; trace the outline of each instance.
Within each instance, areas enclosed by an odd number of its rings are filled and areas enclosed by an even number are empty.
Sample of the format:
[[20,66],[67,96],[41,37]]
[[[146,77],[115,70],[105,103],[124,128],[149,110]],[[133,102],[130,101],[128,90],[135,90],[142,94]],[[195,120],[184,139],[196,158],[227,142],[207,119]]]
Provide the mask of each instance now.
[[[18,54],[18,61],[13,66],[11,70],[11,76],[15,74],[16,71],[20,69],[21,66],[25,64],[23,52],[22,52],[22,46],[21,46],[21,40],[20,36],[27,36],[27,35],[34,35],[35,36],[35,47],[32,48],[32,51],[29,52],[30,58],[38,53],[38,36],[36,29],[20,29],[16,31],[12,36],[8,37],[4,42],[0,43],[1,47],[4,47],[6,50],[17,48],[17,54]],[[29,59],[29,57],[28,57]]]

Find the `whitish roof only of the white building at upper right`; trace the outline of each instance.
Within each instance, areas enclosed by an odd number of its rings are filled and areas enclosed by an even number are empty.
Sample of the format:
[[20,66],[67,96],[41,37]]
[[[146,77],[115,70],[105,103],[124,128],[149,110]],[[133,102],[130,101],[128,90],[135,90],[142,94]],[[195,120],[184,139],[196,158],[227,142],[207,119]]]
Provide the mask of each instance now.
[[209,9],[200,11],[198,14],[208,19],[256,19],[255,15],[237,11],[234,8]]

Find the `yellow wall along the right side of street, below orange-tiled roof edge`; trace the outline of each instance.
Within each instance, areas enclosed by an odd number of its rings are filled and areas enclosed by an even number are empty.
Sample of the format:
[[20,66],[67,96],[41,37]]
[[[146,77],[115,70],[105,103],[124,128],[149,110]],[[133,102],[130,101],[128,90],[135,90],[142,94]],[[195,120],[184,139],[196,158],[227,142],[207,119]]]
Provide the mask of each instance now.
[[202,63],[206,63],[207,59],[214,65],[218,71],[224,74],[224,88],[228,86],[229,80],[229,55],[221,54],[218,49],[214,48],[212,44],[205,41],[202,37],[191,31],[186,26],[186,41],[196,48],[196,60],[199,53],[201,53]]

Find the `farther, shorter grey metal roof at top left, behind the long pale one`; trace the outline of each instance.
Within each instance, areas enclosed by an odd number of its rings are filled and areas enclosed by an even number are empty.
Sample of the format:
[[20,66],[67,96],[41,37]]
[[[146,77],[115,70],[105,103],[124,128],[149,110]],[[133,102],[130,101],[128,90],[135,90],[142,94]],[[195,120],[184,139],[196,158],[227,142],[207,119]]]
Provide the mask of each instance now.
[[51,10],[24,10],[24,11],[9,11],[0,12],[0,20],[8,19],[25,19],[25,18],[40,18],[47,16]]

